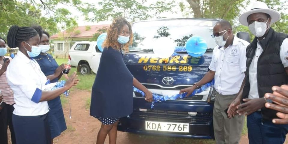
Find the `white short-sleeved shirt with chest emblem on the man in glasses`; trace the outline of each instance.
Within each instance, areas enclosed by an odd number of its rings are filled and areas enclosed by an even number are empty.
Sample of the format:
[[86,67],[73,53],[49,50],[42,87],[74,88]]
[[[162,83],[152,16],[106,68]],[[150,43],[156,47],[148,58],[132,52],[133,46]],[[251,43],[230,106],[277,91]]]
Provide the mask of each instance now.
[[216,46],[209,69],[215,71],[215,90],[221,95],[234,95],[240,90],[246,71],[247,41],[234,36],[225,50]]

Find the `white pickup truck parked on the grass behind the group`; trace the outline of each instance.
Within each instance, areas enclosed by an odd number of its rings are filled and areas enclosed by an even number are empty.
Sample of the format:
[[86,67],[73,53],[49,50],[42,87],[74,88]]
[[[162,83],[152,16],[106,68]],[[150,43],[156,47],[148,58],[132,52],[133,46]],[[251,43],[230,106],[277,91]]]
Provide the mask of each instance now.
[[71,66],[77,67],[82,75],[97,73],[101,51],[97,47],[96,41],[76,42],[69,51]]

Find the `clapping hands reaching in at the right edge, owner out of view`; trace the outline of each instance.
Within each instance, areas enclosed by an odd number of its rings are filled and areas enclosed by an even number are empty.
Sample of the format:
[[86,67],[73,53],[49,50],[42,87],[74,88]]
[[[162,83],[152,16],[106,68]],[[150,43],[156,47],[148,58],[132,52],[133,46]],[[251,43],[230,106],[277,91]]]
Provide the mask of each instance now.
[[280,111],[277,116],[280,119],[273,119],[275,124],[288,124],[288,85],[273,86],[273,94],[266,93],[265,98],[272,100],[276,104],[266,103],[265,107]]

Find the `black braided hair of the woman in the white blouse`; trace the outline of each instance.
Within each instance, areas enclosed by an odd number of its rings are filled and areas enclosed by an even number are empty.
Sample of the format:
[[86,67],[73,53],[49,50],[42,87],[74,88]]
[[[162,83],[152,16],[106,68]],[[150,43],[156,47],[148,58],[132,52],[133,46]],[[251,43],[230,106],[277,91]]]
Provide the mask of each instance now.
[[11,26],[7,34],[7,45],[10,48],[19,47],[20,42],[27,41],[38,35],[35,29],[30,27]]

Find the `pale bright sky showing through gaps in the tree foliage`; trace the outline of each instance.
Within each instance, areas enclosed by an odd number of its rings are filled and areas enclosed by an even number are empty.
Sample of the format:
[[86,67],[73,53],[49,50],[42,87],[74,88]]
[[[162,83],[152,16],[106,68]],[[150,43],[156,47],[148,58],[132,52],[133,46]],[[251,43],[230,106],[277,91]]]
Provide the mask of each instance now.
[[[81,0],[82,2],[87,2],[87,3],[91,3],[91,4],[95,4],[96,7],[98,7],[98,2],[102,1],[102,0]],[[168,1],[168,0],[167,0]],[[248,0],[250,1],[250,4],[252,4],[254,1],[256,0]],[[280,0],[280,1],[288,1],[288,0]],[[147,2],[145,3],[145,5],[150,5],[153,2],[155,2],[155,0],[147,0]],[[173,11],[176,11],[176,13],[163,13],[161,16],[165,16],[167,18],[181,18],[182,13],[180,11],[179,8],[179,2],[183,2],[184,4],[186,4],[187,6],[189,6],[189,3],[187,2],[187,0],[176,0],[176,7],[174,8]],[[60,6],[63,7],[63,6]],[[65,7],[67,8],[67,6]],[[247,6],[247,9],[250,8],[250,5]],[[84,20],[84,16],[82,16],[82,14],[75,10],[73,7],[68,7],[68,10],[73,11],[73,15],[77,17],[77,22],[78,22],[78,26],[88,26],[88,25],[97,25],[97,24],[110,24],[112,21],[111,20],[107,20],[104,22],[87,22]],[[243,8],[242,13],[244,13],[246,10]],[[288,13],[288,9],[285,11],[285,13]],[[90,13],[89,17],[93,17],[93,13]],[[238,22],[238,21],[237,21]]]

